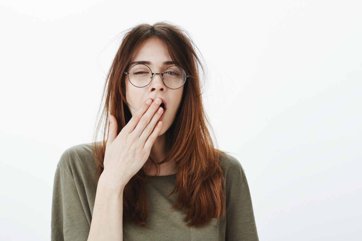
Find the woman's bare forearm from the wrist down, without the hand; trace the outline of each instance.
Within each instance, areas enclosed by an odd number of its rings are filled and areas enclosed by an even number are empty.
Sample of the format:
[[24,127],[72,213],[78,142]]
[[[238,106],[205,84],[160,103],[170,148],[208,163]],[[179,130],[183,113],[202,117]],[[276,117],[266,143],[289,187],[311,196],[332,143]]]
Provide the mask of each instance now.
[[100,178],[88,241],[122,241],[122,216],[123,188],[114,191],[105,178]]

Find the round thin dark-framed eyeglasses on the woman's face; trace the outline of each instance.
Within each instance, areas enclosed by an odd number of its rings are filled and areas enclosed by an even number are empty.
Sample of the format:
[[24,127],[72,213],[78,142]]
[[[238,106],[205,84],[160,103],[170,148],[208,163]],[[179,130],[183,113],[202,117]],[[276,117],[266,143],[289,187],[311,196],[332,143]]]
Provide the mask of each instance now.
[[189,77],[185,70],[176,65],[169,66],[163,73],[152,73],[147,65],[135,64],[125,74],[128,74],[130,83],[139,88],[149,85],[154,74],[160,74],[164,85],[173,90],[181,88]]

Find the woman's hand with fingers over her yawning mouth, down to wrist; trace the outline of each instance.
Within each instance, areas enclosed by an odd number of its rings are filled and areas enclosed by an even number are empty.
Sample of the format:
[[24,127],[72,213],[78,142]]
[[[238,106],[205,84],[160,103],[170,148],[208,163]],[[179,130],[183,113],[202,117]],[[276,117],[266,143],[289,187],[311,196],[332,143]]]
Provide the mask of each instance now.
[[[161,99],[147,99],[117,136],[117,120],[110,115],[110,125],[101,175],[114,190],[125,185],[146,163],[151,147],[159,135],[163,113]],[[157,124],[157,125],[156,125]]]

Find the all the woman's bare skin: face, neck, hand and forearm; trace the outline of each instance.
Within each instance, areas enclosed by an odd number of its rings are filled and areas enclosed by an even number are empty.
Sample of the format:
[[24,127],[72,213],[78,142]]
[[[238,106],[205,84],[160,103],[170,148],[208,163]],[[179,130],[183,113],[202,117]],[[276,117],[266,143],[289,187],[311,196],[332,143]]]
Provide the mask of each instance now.
[[[160,40],[152,38],[139,48],[133,60],[150,61],[152,72],[162,73],[167,68],[163,62],[170,61],[170,57]],[[159,75],[143,88],[126,83],[132,118],[117,135],[117,120],[110,115],[104,171],[98,181],[88,241],[123,240],[123,190],[146,163],[151,149],[157,156],[165,154],[164,134],[174,121],[182,91],[183,87],[168,89]],[[159,121],[163,113],[159,97],[167,102],[163,121]],[[174,172],[170,165],[160,165],[160,168],[160,175]]]

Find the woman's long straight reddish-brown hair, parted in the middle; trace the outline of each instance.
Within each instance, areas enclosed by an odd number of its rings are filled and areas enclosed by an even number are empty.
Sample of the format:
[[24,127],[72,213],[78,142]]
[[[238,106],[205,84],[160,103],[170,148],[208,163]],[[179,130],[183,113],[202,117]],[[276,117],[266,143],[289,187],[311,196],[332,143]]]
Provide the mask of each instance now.
[[[137,48],[149,38],[160,39],[172,61],[189,75],[175,120],[167,131],[168,152],[163,162],[173,161],[177,168],[176,185],[170,195],[176,193],[178,197],[172,208],[185,211],[187,226],[200,226],[212,218],[224,217],[224,177],[219,163],[220,151],[214,147],[202,105],[199,72],[204,72],[204,68],[196,52],[197,47],[187,32],[178,26],[165,22],[141,24],[128,30],[123,37],[106,78],[102,95],[104,106],[94,132],[93,155],[98,162],[97,175],[100,176],[104,170],[109,115],[117,119],[117,134],[132,117],[127,107],[123,73],[127,71]],[[97,142],[102,123],[103,140]],[[156,166],[152,152],[144,167],[131,178],[123,191],[123,219],[142,227],[146,227],[150,212],[145,189],[149,163]]]

